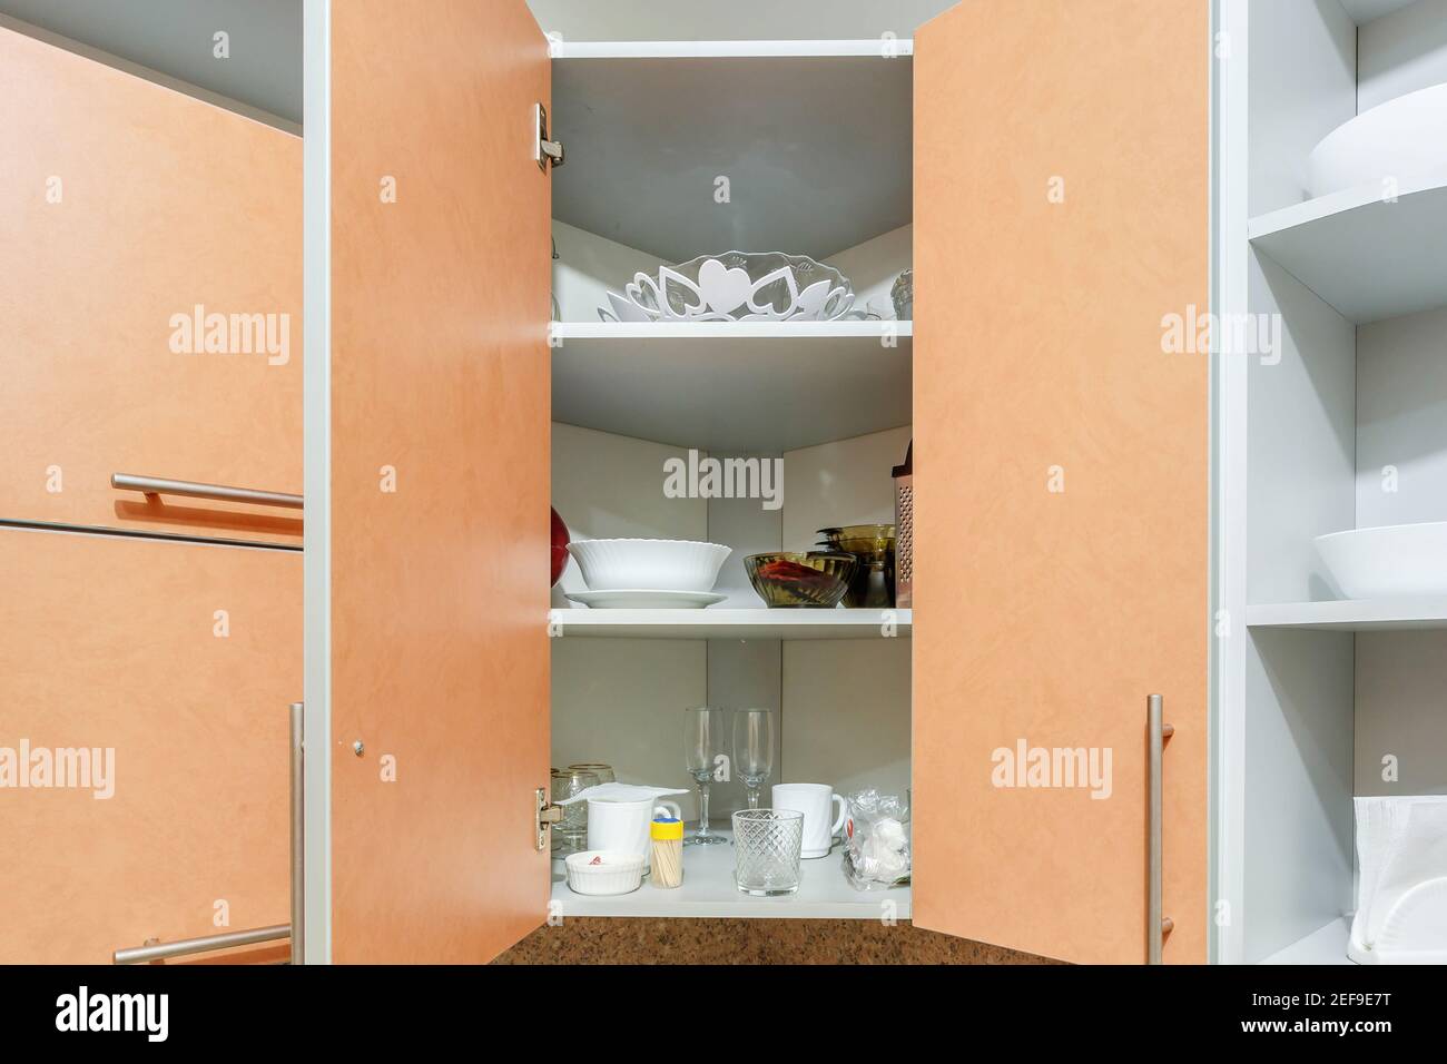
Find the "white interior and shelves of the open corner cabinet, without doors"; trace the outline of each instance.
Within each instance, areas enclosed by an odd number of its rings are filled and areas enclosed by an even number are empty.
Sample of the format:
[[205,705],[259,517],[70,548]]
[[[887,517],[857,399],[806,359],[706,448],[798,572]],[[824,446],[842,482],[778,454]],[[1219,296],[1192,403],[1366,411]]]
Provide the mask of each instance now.
[[[553,592],[553,763],[696,790],[683,709],[777,714],[768,783],[841,793],[910,786],[910,615],[770,611],[742,557],[810,549],[822,527],[891,523],[891,468],[910,440],[910,323],[890,285],[910,265],[909,42],[563,45],[554,49],[553,505],[574,539],[732,547],[703,611],[583,609],[570,563]],[[682,54],[680,54],[682,52]],[[742,55],[731,56],[731,52]],[[771,54],[777,52],[777,54]],[[640,122],[647,116],[647,122]],[[886,320],[614,324],[598,307],[635,272],[725,250],[836,266]],[[669,459],[781,463],[777,505],[670,498]],[[611,636],[611,638],[589,638]],[[767,805],[765,785],[765,805]],[[710,819],[744,805],[713,785]],[[709,853],[712,850],[713,853]],[[583,899],[554,861],[566,915],[909,916],[909,889],[854,892],[838,847],[803,863],[796,898],[732,883],[732,847],[687,848],[684,887]]]

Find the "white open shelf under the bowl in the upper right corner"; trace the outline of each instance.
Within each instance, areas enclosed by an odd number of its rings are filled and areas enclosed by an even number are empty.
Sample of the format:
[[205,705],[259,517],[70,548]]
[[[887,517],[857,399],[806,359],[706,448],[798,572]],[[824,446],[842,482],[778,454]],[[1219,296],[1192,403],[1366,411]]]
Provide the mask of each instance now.
[[1252,243],[1356,323],[1447,305],[1447,185],[1362,185],[1250,220]]

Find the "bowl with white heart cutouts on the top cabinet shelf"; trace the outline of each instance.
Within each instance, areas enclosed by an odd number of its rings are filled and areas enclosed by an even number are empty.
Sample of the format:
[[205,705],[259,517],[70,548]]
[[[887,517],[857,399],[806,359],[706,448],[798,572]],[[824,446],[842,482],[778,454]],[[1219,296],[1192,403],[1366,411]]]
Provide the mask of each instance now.
[[725,252],[637,274],[608,303],[603,321],[832,321],[854,305],[854,288],[807,255]]

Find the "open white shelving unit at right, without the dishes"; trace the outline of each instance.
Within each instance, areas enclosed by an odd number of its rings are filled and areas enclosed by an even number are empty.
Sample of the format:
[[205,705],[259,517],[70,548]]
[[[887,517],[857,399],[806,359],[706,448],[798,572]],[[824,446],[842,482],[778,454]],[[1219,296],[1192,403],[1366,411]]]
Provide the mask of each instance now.
[[1275,320],[1281,345],[1223,356],[1249,365],[1223,369],[1218,420],[1215,957],[1346,963],[1353,795],[1447,792],[1447,602],[1340,601],[1312,539],[1447,520],[1447,187],[1308,200],[1304,174],[1360,111],[1447,83],[1447,3],[1233,10],[1249,133],[1223,182],[1250,221],[1223,220],[1221,310]]

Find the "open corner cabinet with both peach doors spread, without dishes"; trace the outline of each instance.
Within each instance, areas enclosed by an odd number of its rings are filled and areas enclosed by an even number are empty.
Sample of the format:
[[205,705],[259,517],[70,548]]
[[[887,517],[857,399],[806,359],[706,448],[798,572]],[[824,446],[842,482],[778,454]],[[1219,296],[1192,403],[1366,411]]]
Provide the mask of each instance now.
[[[780,709],[786,779],[841,786],[854,759],[860,783],[913,788],[894,916],[1142,961],[1152,693],[1175,730],[1163,955],[1204,961],[1213,379],[1163,352],[1160,321],[1211,305],[1211,9],[980,0],[913,41],[551,46],[521,0],[307,19],[307,580],[326,604],[307,628],[308,961],[485,961],[566,921],[535,831],[550,760],[586,748],[673,783],[677,711],[755,699]],[[538,103],[563,168],[535,162]],[[860,275],[903,245],[915,321],[572,313],[589,269],[616,285],[631,269],[606,262],[735,233]],[[729,566],[888,491],[912,433],[913,614],[881,631],[760,609]],[[810,475],[780,511],[663,501],[658,460],[690,447]],[[550,498],[574,533],[728,543],[729,601],[550,602]],[[997,786],[1017,744],[1110,756],[1113,776]],[[790,915],[692,886],[689,915]],[[797,915],[881,916],[875,895],[835,898],[820,879]],[[638,905],[669,902],[587,912]]]

